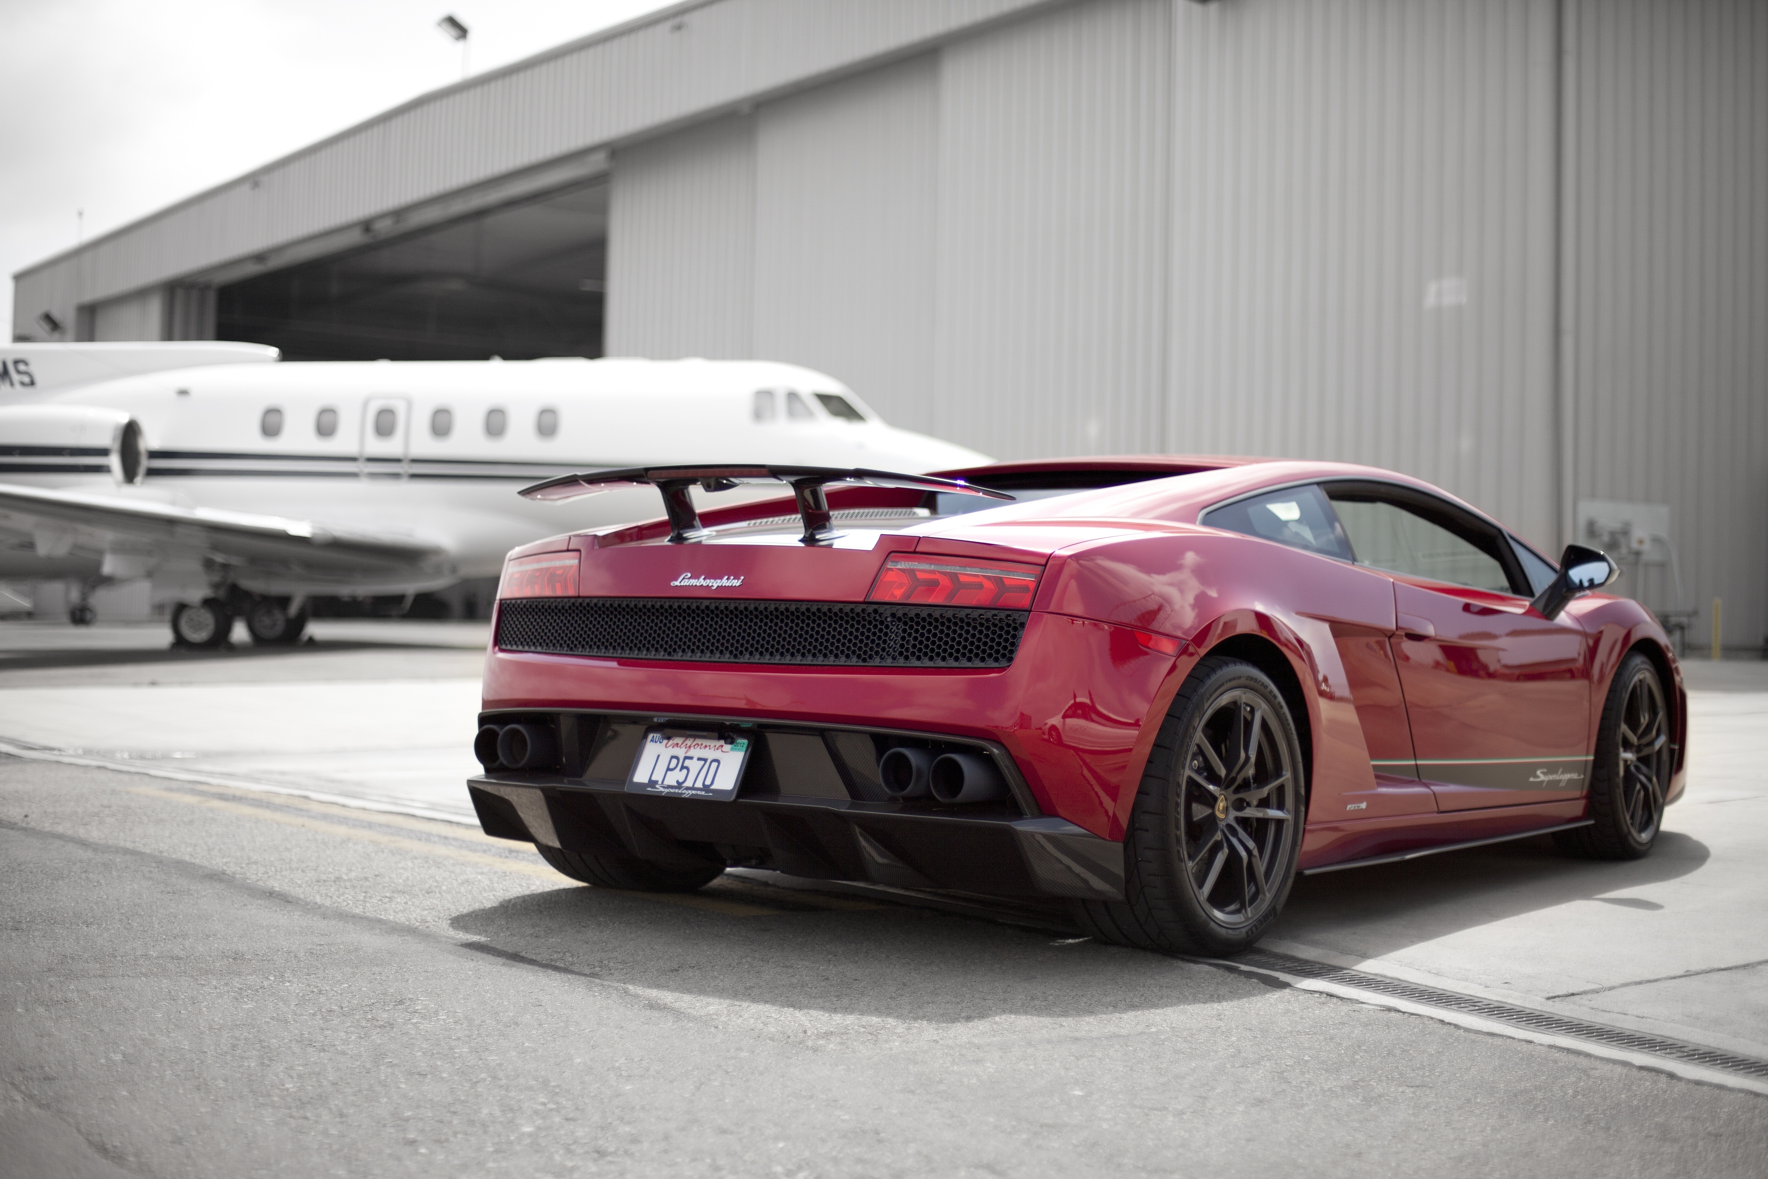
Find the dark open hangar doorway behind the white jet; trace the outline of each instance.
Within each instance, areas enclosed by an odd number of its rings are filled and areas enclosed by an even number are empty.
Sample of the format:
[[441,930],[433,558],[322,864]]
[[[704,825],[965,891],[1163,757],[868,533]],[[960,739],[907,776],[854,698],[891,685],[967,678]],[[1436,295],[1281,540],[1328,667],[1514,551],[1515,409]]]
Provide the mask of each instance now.
[[596,182],[221,286],[216,338],[290,361],[598,357],[606,256]]

